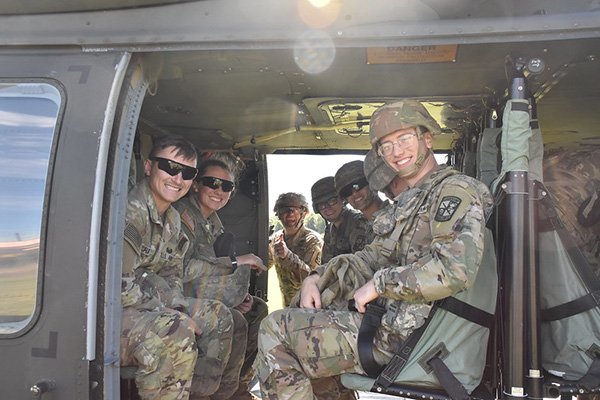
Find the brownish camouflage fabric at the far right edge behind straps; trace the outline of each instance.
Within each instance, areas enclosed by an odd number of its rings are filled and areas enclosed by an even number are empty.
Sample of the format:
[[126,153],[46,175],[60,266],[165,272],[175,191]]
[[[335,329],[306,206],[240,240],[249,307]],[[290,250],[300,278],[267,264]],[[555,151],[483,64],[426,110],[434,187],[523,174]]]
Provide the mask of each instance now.
[[600,150],[547,154],[544,183],[561,221],[600,277]]

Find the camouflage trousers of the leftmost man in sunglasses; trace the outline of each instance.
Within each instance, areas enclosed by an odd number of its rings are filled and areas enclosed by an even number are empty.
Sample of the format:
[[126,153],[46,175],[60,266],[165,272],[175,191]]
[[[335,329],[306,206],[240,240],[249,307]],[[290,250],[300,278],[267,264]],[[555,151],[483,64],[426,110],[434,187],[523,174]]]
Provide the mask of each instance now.
[[142,399],[188,399],[197,356],[185,314],[123,310],[121,365],[138,367],[135,383]]

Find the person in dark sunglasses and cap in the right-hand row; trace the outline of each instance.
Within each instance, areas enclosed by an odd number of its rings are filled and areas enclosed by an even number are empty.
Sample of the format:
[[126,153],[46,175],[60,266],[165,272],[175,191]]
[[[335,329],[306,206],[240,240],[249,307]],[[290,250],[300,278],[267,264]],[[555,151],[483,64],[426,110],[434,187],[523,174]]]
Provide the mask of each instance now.
[[384,203],[377,192],[369,187],[363,165],[360,160],[342,165],[334,176],[335,189],[342,199],[360,211],[368,221],[373,221],[374,214],[389,203]]

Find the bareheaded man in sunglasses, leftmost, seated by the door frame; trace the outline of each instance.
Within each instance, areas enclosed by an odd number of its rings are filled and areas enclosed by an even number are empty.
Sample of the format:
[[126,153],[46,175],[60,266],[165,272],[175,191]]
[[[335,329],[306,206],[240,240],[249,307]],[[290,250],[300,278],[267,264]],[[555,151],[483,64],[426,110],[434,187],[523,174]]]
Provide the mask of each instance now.
[[196,151],[180,138],[155,141],[146,178],[129,193],[123,243],[121,365],[137,366],[142,399],[187,399],[200,329],[182,292],[188,240],[171,203],[196,175]]

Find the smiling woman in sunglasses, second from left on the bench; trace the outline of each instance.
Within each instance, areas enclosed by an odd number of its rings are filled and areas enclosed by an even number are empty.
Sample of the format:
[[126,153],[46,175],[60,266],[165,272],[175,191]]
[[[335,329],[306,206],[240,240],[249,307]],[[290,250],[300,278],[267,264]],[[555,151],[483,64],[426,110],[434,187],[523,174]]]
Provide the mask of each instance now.
[[[186,294],[220,301],[233,318],[229,354],[213,350],[218,357],[205,360],[203,366],[196,368],[192,399],[208,395],[211,399],[251,399],[248,385],[254,377],[251,367],[256,357],[258,328],[268,314],[267,304],[248,293],[250,270],[266,270],[262,260],[254,254],[235,255],[233,247],[227,255],[217,256],[215,251],[215,243],[224,235],[217,211],[231,198],[234,181],[231,168],[224,161],[205,160],[198,167],[189,195],[175,203],[183,231],[190,239],[184,258]],[[217,338],[228,336],[225,332],[215,334]],[[216,346],[217,341],[207,343],[209,352]]]

